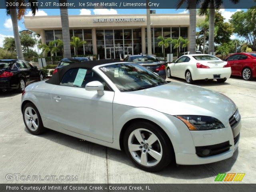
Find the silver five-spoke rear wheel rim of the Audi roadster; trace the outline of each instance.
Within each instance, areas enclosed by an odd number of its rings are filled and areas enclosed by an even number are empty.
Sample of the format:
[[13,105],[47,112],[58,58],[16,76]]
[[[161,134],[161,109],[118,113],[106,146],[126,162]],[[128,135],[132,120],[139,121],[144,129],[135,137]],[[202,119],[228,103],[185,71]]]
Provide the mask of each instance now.
[[38,115],[32,107],[26,108],[24,112],[24,119],[27,127],[30,130],[36,131],[38,129]]

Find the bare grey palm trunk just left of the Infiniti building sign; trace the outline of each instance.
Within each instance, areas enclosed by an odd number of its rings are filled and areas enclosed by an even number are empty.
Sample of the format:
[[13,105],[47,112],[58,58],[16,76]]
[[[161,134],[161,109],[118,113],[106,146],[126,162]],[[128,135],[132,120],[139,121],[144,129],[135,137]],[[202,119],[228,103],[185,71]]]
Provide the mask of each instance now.
[[[67,0],[59,0],[61,4],[66,4]],[[60,19],[62,26],[62,37],[64,44],[64,57],[71,57],[70,50],[70,34],[69,34],[69,22],[68,22],[68,8],[67,6],[60,6]]]

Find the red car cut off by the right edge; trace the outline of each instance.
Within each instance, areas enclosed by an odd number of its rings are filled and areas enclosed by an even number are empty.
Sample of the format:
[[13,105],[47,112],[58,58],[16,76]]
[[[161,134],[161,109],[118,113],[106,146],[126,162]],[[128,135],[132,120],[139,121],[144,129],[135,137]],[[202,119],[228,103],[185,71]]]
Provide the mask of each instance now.
[[242,76],[244,80],[252,80],[256,77],[256,52],[235,53],[226,61],[231,67],[231,75]]

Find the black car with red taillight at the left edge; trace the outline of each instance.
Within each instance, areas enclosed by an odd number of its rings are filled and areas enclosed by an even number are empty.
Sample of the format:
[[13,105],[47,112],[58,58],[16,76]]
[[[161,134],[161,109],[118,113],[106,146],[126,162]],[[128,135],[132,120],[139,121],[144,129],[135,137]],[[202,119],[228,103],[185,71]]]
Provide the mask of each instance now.
[[0,90],[22,92],[26,85],[43,80],[43,74],[27,61],[16,59],[0,60]]

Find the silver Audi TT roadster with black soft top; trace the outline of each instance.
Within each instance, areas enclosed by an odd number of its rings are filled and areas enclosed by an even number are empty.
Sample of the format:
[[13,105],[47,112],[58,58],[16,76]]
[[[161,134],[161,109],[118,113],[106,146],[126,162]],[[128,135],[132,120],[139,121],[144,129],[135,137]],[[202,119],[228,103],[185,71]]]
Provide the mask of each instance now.
[[237,106],[223,94],[168,83],[143,66],[114,60],[60,68],[25,88],[21,110],[32,134],[50,128],[124,149],[136,166],[152,172],[170,162],[230,158],[241,129]]

